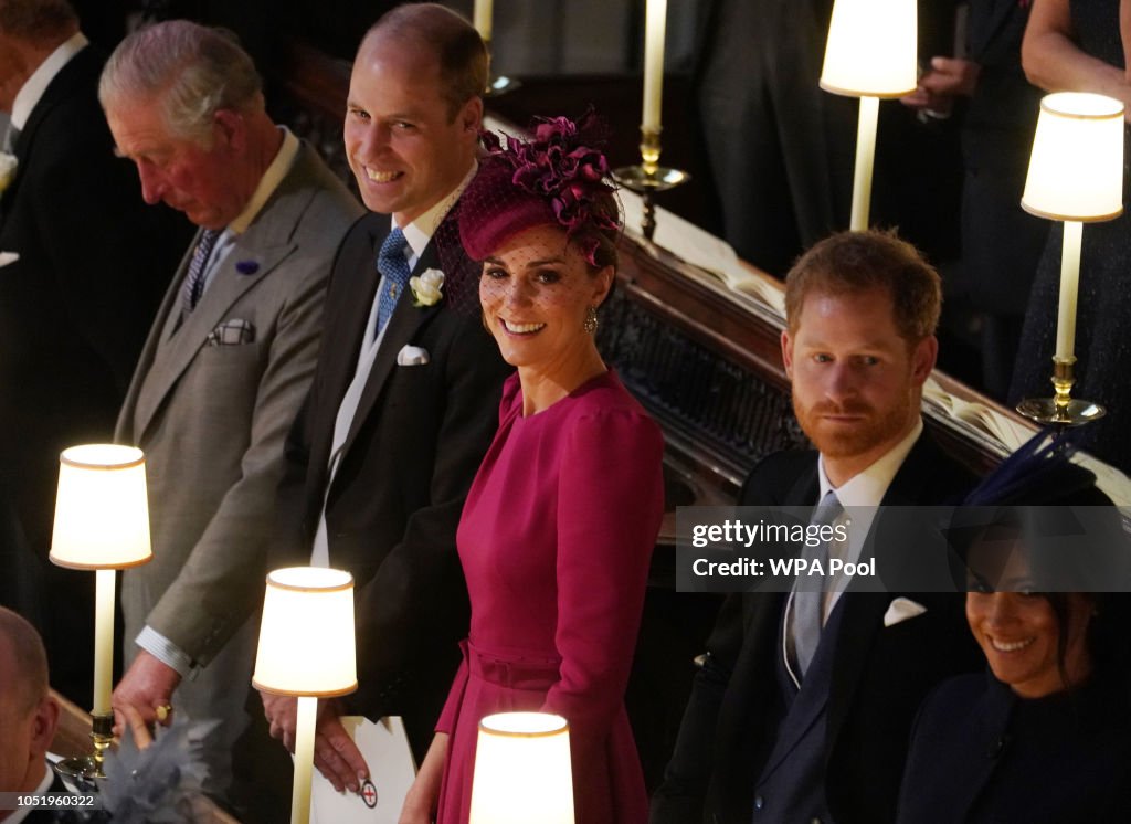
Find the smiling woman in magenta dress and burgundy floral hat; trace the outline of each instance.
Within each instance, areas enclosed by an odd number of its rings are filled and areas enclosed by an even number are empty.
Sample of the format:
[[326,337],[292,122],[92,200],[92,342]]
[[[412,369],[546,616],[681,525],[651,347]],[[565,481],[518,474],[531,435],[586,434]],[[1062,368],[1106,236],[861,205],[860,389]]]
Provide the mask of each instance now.
[[578,131],[560,118],[530,142],[487,138],[460,199],[464,248],[484,261],[483,320],[518,373],[459,524],[464,662],[402,824],[467,822],[478,722],[511,710],[569,721],[578,824],[647,821],[623,697],[663,437],[594,344],[619,220],[605,158]]

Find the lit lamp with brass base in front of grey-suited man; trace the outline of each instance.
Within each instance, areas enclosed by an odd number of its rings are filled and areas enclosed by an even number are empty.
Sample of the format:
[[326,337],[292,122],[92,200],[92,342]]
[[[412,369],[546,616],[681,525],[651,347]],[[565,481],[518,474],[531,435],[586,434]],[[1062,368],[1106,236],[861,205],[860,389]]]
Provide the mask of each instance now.
[[74,570],[95,570],[94,751],[68,758],[57,770],[83,786],[104,779],[106,748],[113,740],[110,705],[114,660],[115,571],[153,557],[145,456],[133,446],[86,444],[59,457],[59,489],[51,562]]

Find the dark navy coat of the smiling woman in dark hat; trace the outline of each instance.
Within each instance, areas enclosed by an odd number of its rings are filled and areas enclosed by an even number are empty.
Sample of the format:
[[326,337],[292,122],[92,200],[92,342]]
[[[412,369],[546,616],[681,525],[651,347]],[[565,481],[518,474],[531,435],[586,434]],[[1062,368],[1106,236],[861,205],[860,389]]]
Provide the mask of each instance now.
[[1035,701],[988,673],[952,678],[915,721],[898,822],[1125,822],[1129,710],[1120,678]]

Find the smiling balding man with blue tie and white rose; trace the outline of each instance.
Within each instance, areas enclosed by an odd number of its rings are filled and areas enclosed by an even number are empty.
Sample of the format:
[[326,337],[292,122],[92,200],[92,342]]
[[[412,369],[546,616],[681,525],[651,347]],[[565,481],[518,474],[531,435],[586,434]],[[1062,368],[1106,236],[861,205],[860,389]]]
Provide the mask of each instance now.
[[[273,560],[356,581],[360,687],[325,705],[316,744],[339,789],[356,790],[368,770],[339,713],[402,715],[423,757],[467,634],[456,526],[510,371],[480,323],[480,267],[452,211],[477,168],[486,81],[483,41],[435,3],[378,20],[349,81],[346,154],[372,214],[335,261],[318,368],[287,439]],[[439,296],[408,283],[441,272]],[[264,694],[264,708],[293,748],[294,700]]]

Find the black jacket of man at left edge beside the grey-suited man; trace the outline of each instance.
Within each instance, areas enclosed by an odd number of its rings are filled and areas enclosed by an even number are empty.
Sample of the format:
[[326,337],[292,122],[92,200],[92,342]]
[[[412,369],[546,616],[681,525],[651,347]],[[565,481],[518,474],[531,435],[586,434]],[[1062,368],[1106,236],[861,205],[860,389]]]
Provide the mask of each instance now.
[[[16,176],[0,193],[0,252],[19,255],[0,267],[0,496],[7,489],[38,556],[18,563],[40,565],[52,592],[40,627],[53,683],[80,703],[89,696],[89,653],[84,663],[88,648],[76,647],[72,633],[86,632],[93,581],[45,560],[59,452],[111,439],[192,231],[165,207],[146,206],[132,164],[114,157],[96,96],[101,70],[88,46],[55,75],[20,132]],[[0,547],[0,602],[42,601],[7,591],[17,552]]]

